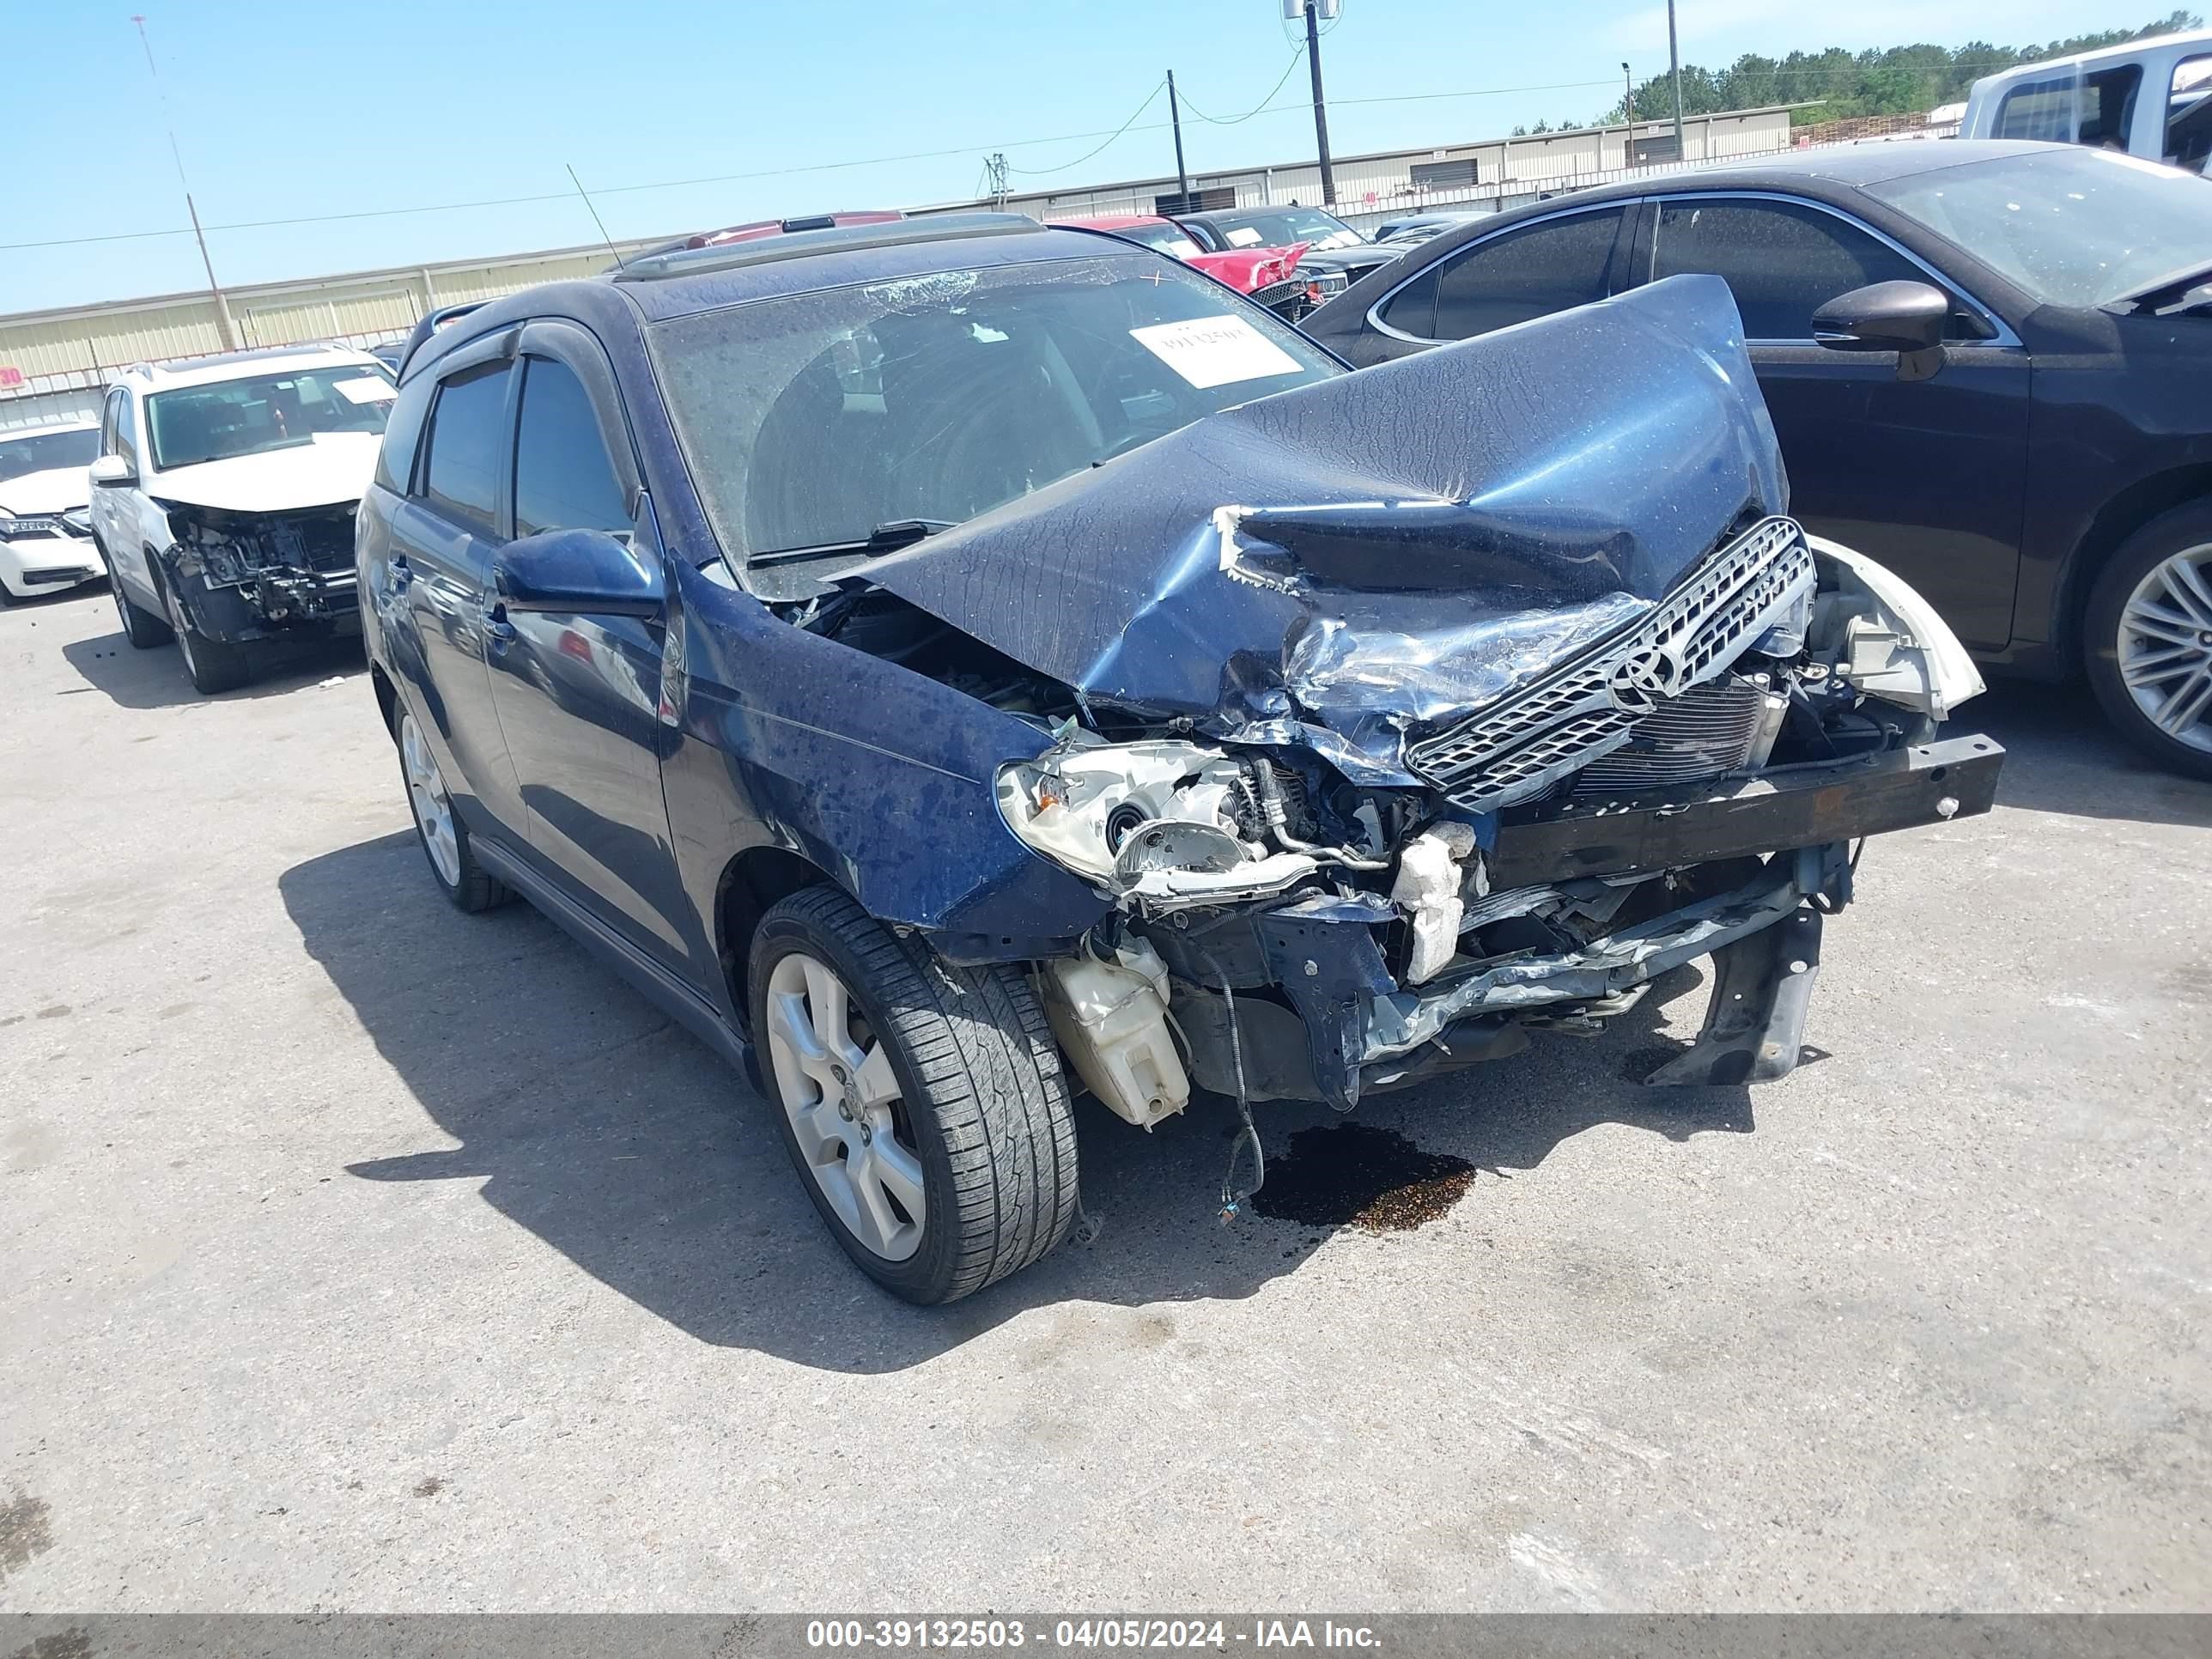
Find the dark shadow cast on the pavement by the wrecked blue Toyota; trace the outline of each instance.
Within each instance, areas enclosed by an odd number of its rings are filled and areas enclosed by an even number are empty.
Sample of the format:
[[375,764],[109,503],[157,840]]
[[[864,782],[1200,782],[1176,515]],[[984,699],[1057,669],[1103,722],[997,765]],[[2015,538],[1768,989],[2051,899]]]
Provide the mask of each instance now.
[[[1199,1097],[1152,1135],[1079,1102],[1082,1192],[1097,1234],[951,1307],[907,1307],[838,1252],[790,1168],[774,1108],[739,1073],[526,905],[456,914],[420,856],[414,832],[400,832],[294,865],[279,883],[303,945],[378,1055],[460,1141],[345,1170],[473,1181],[493,1210],[701,1343],[898,1371],[1037,1305],[1252,1296],[1336,1230],[1252,1212],[1219,1221],[1228,1102]],[[1460,1208],[1482,1203],[1484,1181],[1533,1170],[1599,1124],[1670,1141],[1750,1133],[1743,1088],[1646,1091],[1624,1075],[1666,1057],[1652,1051],[1659,1006],[1694,984],[1694,973],[1670,975],[1604,1037],[1537,1040],[1522,1057],[1371,1097],[1354,1121],[1473,1166]],[[1256,1110],[1272,1159],[1296,1130],[1347,1121],[1323,1106]]]

